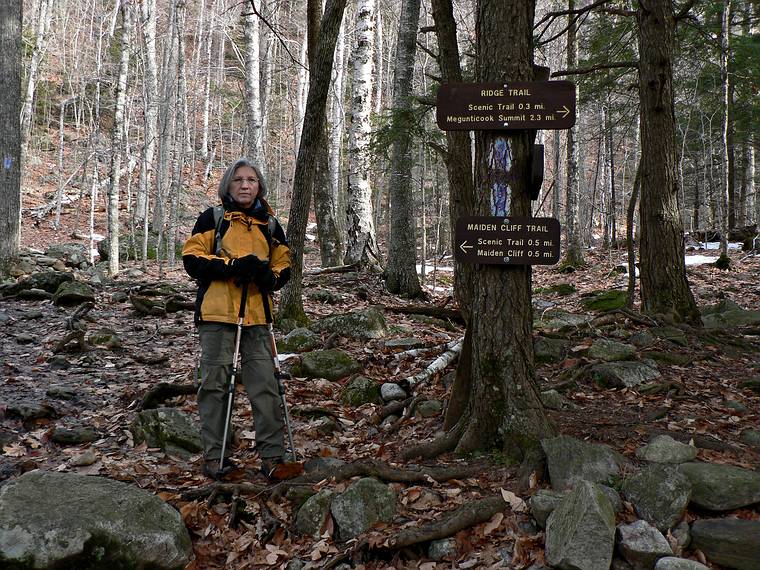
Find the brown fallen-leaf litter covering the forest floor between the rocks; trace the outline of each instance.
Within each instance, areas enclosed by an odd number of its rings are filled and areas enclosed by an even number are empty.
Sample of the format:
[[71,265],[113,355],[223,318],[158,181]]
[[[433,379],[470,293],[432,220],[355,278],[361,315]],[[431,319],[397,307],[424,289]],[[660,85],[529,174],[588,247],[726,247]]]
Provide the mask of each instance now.
[[[43,224],[45,225],[45,224]],[[44,248],[46,239],[26,230],[25,244]],[[32,237],[33,236],[33,237]],[[60,238],[58,238],[60,239]],[[704,252],[702,252],[704,253]],[[714,255],[717,252],[707,252]],[[587,268],[573,274],[559,274],[551,267],[534,268],[534,288],[570,283],[577,291],[567,296],[534,294],[534,299],[554,303],[556,307],[584,313],[581,301],[588,293],[601,289],[620,289],[626,276],[613,268],[625,259],[622,251],[592,251]],[[738,302],[746,309],[760,310],[760,258],[746,257],[734,251],[732,269],[720,271],[711,265],[688,268],[689,280],[700,306],[723,298]],[[307,256],[307,270],[316,259]],[[133,267],[127,265],[126,269]],[[136,266],[134,266],[136,267]],[[127,275],[125,272],[123,275]],[[430,275],[428,276],[430,279]],[[519,488],[516,467],[505,463],[504,455],[495,453],[478,457],[456,457],[451,454],[427,461],[426,466],[479,467],[475,475],[441,483],[420,484],[395,482],[399,512],[394,522],[375,527],[363,542],[340,543],[333,540],[331,527],[320,540],[300,537],[292,532],[294,503],[277,492],[256,471],[258,457],[252,449],[251,414],[244,405],[244,396],[237,397],[234,416],[237,431],[236,458],[245,471],[237,475],[240,482],[250,482],[259,492],[242,494],[237,511],[244,508],[254,522],[231,526],[233,502],[222,496],[217,501],[190,500],[188,492],[201,494],[210,480],[201,474],[199,455],[189,459],[167,455],[160,449],[135,445],[129,426],[139,411],[144,394],[158,382],[187,383],[192,380],[197,338],[192,313],[170,316],[137,315],[128,300],[115,296],[141,285],[168,281],[188,297],[194,284],[181,269],[168,271],[161,280],[156,268],[150,267],[143,277],[106,282],[97,289],[95,308],[88,314],[89,327],[107,326],[122,340],[118,349],[89,348],[84,352],[62,353],[67,364],[54,366],[53,348],[65,334],[66,319],[72,309],[60,308],[49,301],[0,300],[0,311],[10,317],[3,327],[3,366],[0,381],[0,432],[6,436],[0,454],[0,481],[31,469],[59,470],[98,474],[126,481],[160,495],[181,512],[194,544],[196,569],[212,568],[285,568],[293,557],[313,563],[313,567],[332,567],[339,560],[356,555],[356,567],[372,568],[489,568],[499,567],[506,555],[510,567],[528,568],[543,560],[543,533],[533,527],[528,515],[506,510],[490,521],[462,530],[456,535],[458,552],[455,561],[432,562],[420,547],[401,550],[389,548],[387,539],[401,528],[420,525],[437,519],[444,511],[477,498],[507,490],[528,499],[533,489]],[[454,308],[450,297],[452,273],[440,271],[431,306]],[[339,295],[337,305],[305,300],[311,319],[344,313],[370,305],[401,307],[406,304],[390,296],[382,281],[374,275],[327,274],[307,275],[304,291],[327,289]],[[388,338],[416,337],[426,345],[441,347],[463,336],[463,328],[455,322],[420,322],[403,312],[385,311],[392,331]],[[618,315],[608,323],[604,336],[611,330],[630,334],[643,330],[643,325]],[[410,332],[411,331],[411,332]],[[14,342],[25,334],[30,339]],[[760,338],[757,331],[729,331],[720,336],[689,335],[687,346],[669,345],[661,350],[680,355],[678,364],[660,364],[662,381],[670,389],[659,394],[643,395],[633,389],[601,388],[590,380],[579,379],[563,390],[571,403],[561,411],[548,413],[561,433],[584,440],[604,443],[635,460],[634,452],[658,433],[669,433],[682,441],[693,440],[699,448],[699,459],[758,469],[760,452],[739,440],[741,432],[760,425],[760,395],[738,387],[742,380],[760,374]],[[600,336],[594,327],[583,327],[571,334],[573,349],[569,358],[537,367],[537,381],[542,390],[550,389],[563,377],[566,369],[585,362],[583,350]],[[327,342],[327,338],[323,338]],[[334,347],[349,351],[362,362],[362,374],[377,382],[395,382],[423,370],[439,353],[435,349],[418,358],[397,359],[385,348],[384,341],[330,339]],[[153,364],[146,364],[153,362]],[[58,359],[61,365],[60,359]],[[452,370],[450,366],[448,371]],[[440,433],[442,417],[405,419],[394,429],[378,429],[370,417],[380,408],[366,404],[354,408],[339,400],[342,386],[338,382],[294,379],[288,385],[288,402],[292,408],[320,407],[338,418],[340,429],[332,434],[319,433],[308,417],[294,415],[294,437],[302,456],[335,457],[345,461],[375,459],[396,467],[407,465],[401,452],[409,442],[422,442]],[[47,394],[51,387],[69,390],[70,400],[54,400]],[[60,393],[60,392],[59,392]],[[446,400],[441,375],[418,389],[424,398]],[[22,423],[4,414],[7,407],[23,402],[48,403],[51,417]],[[734,405],[738,403],[739,405]],[[171,401],[172,405],[197,417],[194,396]],[[50,440],[56,426],[87,425],[94,427],[99,439],[90,446],[60,446]],[[91,449],[96,461],[85,467],[73,467],[70,460]],[[317,488],[340,490],[348,482],[321,482]],[[538,487],[546,486],[538,482]],[[432,492],[431,492],[432,491]],[[291,495],[292,496],[292,495]],[[268,529],[255,522],[267,514],[274,521]],[[688,519],[701,513],[690,511]],[[746,518],[760,518],[757,508],[739,513]],[[626,511],[622,519],[633,519]],[[273,530],[273,532],[266,532]],[[262,544],[266,537],[266,544]],[[506,553],[506,554],[505,554]],[[693,556],[685,553],[684,556]]]

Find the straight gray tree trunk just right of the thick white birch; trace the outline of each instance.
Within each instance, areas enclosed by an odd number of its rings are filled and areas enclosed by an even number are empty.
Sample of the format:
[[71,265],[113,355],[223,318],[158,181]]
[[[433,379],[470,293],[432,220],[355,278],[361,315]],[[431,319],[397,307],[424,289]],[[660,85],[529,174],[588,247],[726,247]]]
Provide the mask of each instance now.
[[[385,286],[388,291],[410,298],[423,296],[420,280],[417,277],[417,243],[414,233],[414,191],[412,188],[414,117],[411,94],[419,18],[420,0],[403,0],[398,25],[391,106],[392,128],[395,136],[390,160],[388,192],[391,197],[391,227],[388,236],[388,265],[385,268]],[[422,175],[420,178],[424,180]]]

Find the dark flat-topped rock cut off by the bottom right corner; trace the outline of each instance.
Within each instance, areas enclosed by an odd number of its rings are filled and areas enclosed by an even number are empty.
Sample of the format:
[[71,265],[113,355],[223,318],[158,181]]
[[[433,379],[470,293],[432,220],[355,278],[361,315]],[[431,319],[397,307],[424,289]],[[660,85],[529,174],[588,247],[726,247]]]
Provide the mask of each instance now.
[[711,561],[737,570],[760,567],[760,521],[700,519],[691,525],[692,547]]

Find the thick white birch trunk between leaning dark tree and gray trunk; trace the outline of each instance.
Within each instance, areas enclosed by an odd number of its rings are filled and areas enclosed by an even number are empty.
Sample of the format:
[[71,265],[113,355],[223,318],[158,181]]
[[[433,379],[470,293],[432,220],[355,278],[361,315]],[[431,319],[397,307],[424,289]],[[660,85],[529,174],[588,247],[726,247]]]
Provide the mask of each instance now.
[[[348,240],[346,265],[371,265],[379,260],[369,184],[372,58],[375,40],[375,0],[358,0],[353,50],[351,127],[348,143]],[[374,258],[374,259],[372,259]]]

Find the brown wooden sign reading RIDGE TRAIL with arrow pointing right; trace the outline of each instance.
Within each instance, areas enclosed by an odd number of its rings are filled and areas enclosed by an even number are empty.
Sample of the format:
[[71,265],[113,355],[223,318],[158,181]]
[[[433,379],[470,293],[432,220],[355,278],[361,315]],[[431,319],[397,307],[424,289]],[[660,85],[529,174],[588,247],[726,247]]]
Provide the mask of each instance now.
[[436,122],[444,131],[569,129],[575,124],[571,81],[446,83]]

